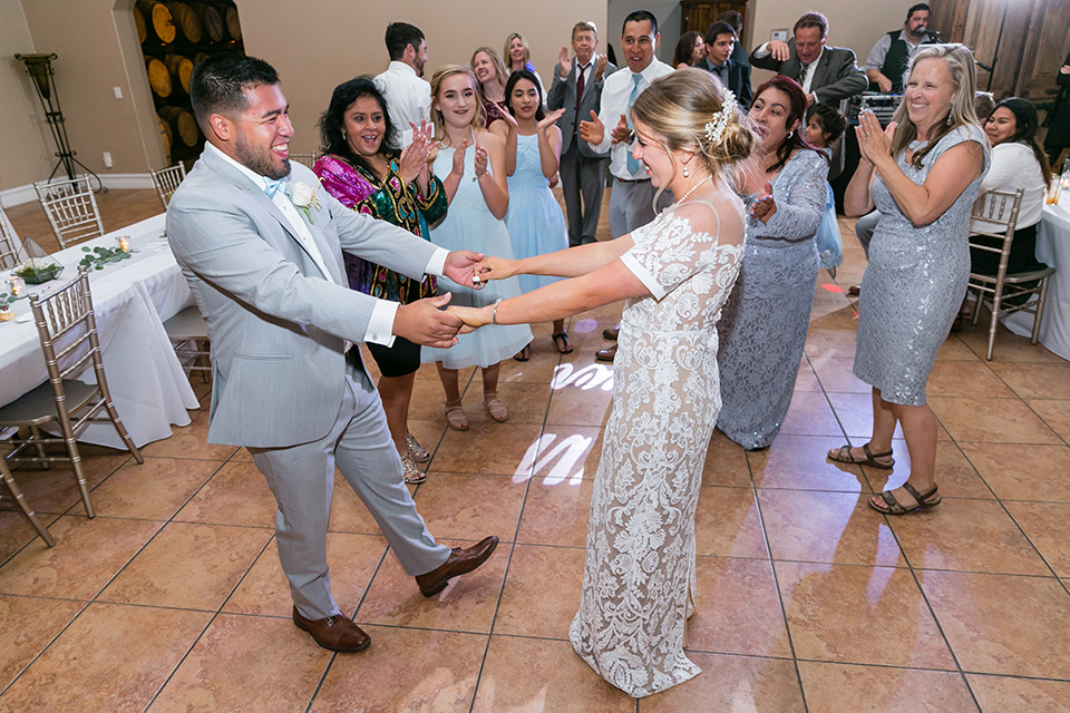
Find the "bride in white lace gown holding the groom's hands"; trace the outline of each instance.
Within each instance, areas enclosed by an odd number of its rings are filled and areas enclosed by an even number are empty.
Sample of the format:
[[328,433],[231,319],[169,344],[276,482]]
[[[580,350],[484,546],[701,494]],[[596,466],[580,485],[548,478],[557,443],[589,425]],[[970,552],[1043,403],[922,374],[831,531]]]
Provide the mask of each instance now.
[[753,145],[722,91],[708,72],[685,69],[656,79],[635,100],[632,154],[654,186],[681,196],[653,222],[615,241],[519,261],[487,258],[486,279],[573,280],[480,310],[451,307],[478,328],[626,300],[570,638],[600,676],[635,697],[700,673],[683,652],[693,611],[694,511],[721,403],[714,325],[743,243],[742,204],[724,169]]

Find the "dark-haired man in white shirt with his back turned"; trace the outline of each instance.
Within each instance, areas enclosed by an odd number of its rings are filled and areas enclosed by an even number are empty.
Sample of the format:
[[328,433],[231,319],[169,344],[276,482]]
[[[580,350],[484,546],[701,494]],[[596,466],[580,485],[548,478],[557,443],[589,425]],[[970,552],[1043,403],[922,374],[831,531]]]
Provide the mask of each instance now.
[[431,120],[431,85],[420,79],[427,64],[427,42],[420,28],[407,22],[387,26],[387,52],[390,67],[376,77],[376,86],[387,100],[390,120],[401,131],[401,147],[412,143],[411,121]]

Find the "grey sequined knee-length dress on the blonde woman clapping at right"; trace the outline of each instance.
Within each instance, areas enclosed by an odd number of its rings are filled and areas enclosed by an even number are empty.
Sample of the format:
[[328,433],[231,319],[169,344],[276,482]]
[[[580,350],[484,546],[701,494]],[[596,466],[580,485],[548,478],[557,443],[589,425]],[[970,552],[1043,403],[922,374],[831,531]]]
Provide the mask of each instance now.
[[[947,339],[966,293],[970,208],[989,170],[989,148],[981,129],[969,126],[940,139],[921,168],[907,164],[905,152],[896,156],[903,173],[921,185],[940,156],[963,141],[983,147],[984,168],[928,225],[915,227],[903,215],[879,175],[873,183],[873,202],[881,211],[881,222],[873,233],[869,264],[862,279],[854,372],[892,403],[925,403],[925,382],[936,352]],[[918,146],[922,143],[915,141],[911,148]]]

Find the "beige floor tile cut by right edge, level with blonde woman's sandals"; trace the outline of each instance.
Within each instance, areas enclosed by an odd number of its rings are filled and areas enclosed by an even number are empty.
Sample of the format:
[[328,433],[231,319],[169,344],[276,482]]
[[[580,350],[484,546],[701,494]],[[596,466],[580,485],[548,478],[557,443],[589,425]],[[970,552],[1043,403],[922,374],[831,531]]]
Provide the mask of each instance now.
[[1070,472],[1066,446],[963,443],[962,450],[999,498],[1070,502],[1070,491],[1056,477]]

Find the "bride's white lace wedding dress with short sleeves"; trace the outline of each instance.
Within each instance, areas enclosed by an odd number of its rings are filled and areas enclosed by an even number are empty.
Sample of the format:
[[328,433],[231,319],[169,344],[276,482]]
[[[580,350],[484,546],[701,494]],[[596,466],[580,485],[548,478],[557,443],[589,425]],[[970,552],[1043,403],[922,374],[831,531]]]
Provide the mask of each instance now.
[[[634,697],[700,673],[683,653],[694,589],[694,511],[720,410],[714,325],[742,257],[742,209],[663,212],[622,257],[652,296],[629,300],[613,361],[613,409],[591,497],[576,653]],[[714,234],[694,232],[704,212]],[[721,208],[724,212],[724,208]],[[738,227],[736,227],[738,226]]]

